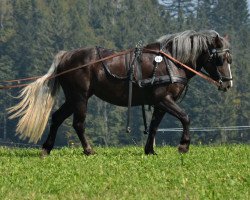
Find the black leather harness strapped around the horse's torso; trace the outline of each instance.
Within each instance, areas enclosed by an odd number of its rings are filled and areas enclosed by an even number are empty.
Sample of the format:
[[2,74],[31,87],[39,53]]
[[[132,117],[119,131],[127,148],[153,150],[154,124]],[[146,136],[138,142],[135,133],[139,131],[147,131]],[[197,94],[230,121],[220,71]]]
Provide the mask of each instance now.
[[[103,59],[101,49],[102,49],[101,47],[96,47],[99,58]],[[159,50],[161,49],[162,48],[160,47]],[[108,50],[108,51],[109,51],[108,54],[114,53],[114,51],[112,50]],[[132,104],[133,84],[136,84],[137,86],[141,88],[144,88],[144,87],[153,87],[153,86],[165,85],[165,84],[171,84],[171,83],[181,83],[183,85],[187,85],[187,82],[188,82],[186,77],[174,75],[173,68],[176,67],[175,64],[172,61],[170,61],[168,58],[166,58],[165,56],[162,57],[159,53],[156,54],[154,60],[152,61],[153,62],[152,76],[146,79],[142,79],[141,56],[143,53],[146,53],[146,52],[148,53],[146,49],[136,47],[134,49],[133,55],[130,56],[129,63],[128,63],[127,55],[125,56],[125,69],[127,72],[125,76],[119,76],[119,75],[112,73],[107,63],[104,60],[101,61],[106,75],[114,79],[128,81],[128,112],[127,112],[127,126],[126,126],[126,131],[128,133],[131,132],[130,121],[131,121],[131,104]],[[155,54],[153,52],[151,53]],[[161,62],[165,63],[168,74],[162,75],[162,76],[156,76],[156,71]],[[136,72],[136,75],[135,75],[135,72]],[[143,123],[144,123],[144,128],[145,128],[144,134],[147,134],[148,125],[147,125],[144,104],[142,104],[142,116],[143,116]]]

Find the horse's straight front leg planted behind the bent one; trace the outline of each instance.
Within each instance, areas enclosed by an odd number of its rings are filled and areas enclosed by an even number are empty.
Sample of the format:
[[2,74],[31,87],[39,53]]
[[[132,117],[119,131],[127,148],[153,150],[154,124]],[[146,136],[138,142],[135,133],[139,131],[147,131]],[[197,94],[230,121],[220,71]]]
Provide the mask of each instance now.
[[148,135],[147,143],[145,145],[145,154],[156,155],[154,151],[155,135],[156,135],[158,126],[161,123],[162,118],[164,117],[164,114],[165,114],[165,111],[155,106],[152,119],[151,119],[151,123],[150,123],[150,127],[149,127],[149,135]]

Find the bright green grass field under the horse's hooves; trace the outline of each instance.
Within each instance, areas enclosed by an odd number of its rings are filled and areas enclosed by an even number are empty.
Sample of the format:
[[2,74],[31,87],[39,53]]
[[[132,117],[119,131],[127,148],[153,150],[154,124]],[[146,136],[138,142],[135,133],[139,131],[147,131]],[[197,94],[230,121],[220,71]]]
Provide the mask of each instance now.
[[250,199],[250,146],[0,148],[0,199]]

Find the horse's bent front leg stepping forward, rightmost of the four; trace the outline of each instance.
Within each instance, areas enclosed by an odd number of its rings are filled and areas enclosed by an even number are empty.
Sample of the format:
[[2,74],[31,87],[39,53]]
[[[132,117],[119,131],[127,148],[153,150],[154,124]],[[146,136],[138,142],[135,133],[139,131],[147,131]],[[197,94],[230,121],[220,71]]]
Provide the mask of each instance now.
[[164,98],[164,100],[160,103],[160,107],[181,121],[183,126],[183,133],[181,136],[181,141],[178,150],[180,153],[188,152],[190,144],[190,134],[189,134],[190,120],[188,115],[183,109],[181,109],[176,104],[171,95],[167,95]]

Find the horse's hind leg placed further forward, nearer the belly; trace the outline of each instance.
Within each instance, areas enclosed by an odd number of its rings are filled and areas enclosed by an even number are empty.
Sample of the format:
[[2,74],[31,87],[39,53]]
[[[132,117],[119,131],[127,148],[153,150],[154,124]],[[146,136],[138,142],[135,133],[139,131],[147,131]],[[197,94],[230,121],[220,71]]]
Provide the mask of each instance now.
[[85,136],[85,118],[87,112],[87,100],[82,100],[75,103],[73,127],[81,141],[83,153],[85,155],[94,154],[86,136]]

